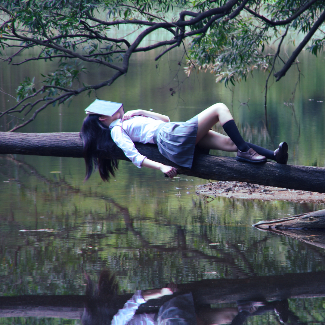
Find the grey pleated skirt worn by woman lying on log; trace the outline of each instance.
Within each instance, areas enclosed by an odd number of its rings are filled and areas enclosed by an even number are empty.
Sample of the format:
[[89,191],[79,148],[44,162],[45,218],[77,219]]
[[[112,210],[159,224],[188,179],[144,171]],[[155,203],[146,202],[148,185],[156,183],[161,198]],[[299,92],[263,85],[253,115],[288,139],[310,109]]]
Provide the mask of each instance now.
[[186,122],[162,124],[154,136],[160,153],[179,166],[191,168],[193,163],[198,116]]

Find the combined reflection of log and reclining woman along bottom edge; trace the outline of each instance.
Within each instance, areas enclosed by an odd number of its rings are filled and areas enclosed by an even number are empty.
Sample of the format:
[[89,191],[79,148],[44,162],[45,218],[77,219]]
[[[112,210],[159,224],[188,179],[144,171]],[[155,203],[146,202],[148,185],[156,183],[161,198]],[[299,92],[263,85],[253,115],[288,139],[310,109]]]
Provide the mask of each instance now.
[[[97,284],[86,277],[85,294],[79,296],[0,297],[0,317],[9,318],[11,324],[19,323],[19,317],[30,317],[25,324],[31,324],[32,317],[47,317],[81,319],[83,325],[109,325],[112,319],[113,324],[123,325],[325,321],[324,271],[202,280],[177,286],[170,283],[164,288],[138,290],[133,294],[119,294],[118,280],[108,270],[101,271]],[[312,321],[308,319],[311,308],[315,315]],[[48,319],[47,323],[54,324],[54,320]]]

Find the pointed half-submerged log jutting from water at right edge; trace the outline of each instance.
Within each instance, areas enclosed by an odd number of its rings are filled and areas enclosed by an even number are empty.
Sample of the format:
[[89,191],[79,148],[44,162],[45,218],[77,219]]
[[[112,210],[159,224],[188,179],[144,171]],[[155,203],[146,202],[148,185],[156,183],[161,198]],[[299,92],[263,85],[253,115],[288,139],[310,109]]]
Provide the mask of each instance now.
[[[308,237],[308,236],[303,231],[291,232],[289,229],[297,229],[297,230],[298,229],[305,229],[305,230],[325,229],[325,210],[318,210],[318,211],[304,213],[304,214],[297,214],[297,215],[293,215],[292,217],[259,221],[253,226],[262,230],[272,230],[273,232],[281,233],[282,235],[291,233],[290,237],[299,239],[297,238],[297,236],[298,237],[299,236]],[[296,233],[296,237],[294,236],[294,233]],[[322,232],[321,235],[322,236],[319,237],[319,240],[313,238],[312,240],[309,240],[309,243],[315,245],[316,242],[318,242],[317,246],[325,248],[324,232]],[[315,236],[316,234],[314,234],[313,237]]]

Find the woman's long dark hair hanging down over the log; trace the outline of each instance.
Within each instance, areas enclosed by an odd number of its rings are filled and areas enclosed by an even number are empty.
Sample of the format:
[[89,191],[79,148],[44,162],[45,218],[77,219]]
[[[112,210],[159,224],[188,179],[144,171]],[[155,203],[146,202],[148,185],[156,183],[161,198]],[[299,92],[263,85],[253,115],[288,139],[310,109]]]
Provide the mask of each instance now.
[[113,153],[116,144],[110,136],[110,129],[98,120],[99,116],[98,114],[87,114],[80,131],[86,163],[85,181],[96,168],[98,168],[102,180],[109,181],[110,175],[115,176],[115,171],[118,168],[118,160],[103,158],[104,153],[106,156]]

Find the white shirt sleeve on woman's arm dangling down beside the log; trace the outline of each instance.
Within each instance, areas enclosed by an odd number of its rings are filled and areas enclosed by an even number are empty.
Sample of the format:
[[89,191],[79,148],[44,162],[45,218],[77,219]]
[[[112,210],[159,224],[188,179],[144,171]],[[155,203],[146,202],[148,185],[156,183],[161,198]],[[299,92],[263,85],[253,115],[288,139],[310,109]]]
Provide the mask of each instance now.
[[141,168],[141,164],[146,156],[140,154],[127,133],[123,130],[121,132],[121,127],[118,125],[114,126],[110,130],[113,141],[123,150],[125,156],[129,158],[138,168]]

